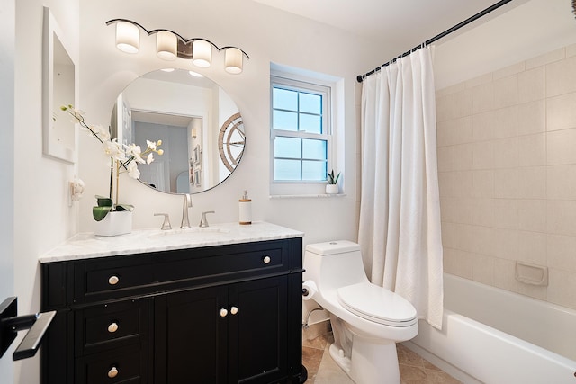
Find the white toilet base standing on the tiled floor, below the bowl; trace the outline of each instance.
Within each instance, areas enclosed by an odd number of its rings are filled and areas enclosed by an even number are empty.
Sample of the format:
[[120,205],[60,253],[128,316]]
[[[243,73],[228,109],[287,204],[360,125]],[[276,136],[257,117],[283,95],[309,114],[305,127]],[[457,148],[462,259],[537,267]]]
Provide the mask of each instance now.
[[331,344],[329,353],[356,384],[400,384],[395,343],[366,343],[355,337],[351,358],[345,355],[338,344]]

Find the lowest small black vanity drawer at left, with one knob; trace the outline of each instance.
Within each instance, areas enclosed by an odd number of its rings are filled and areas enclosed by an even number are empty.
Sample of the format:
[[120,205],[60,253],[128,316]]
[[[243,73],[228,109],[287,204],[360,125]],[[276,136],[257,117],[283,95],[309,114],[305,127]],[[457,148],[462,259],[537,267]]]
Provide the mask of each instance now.
[[148,351],[124,348],[76,359],[76,384],[146,383]]

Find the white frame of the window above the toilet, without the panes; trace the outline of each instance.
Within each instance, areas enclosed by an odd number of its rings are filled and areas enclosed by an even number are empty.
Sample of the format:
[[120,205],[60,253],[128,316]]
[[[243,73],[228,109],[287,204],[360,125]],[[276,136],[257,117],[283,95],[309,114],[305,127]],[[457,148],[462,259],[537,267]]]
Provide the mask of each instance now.
[[[274,129],[273,127],[273,92],[275,85],[281,85],[286,89],[292,89],[313,94],[322,94],[322,131],[324,133],[309,133],[305,131],[293,131],[284,129]],[[326,185],[325,179],[319,181],[311,180],[275,180],[275,138],[312,138],[325,140],[327,142],[327,169],[332,169],[334,132],[332,128],[332,103],[333,103],[332,83],[317,79],[306,78],[294,74],[271,72],[270,75],[270,185],[271,194],[310,194],[320,193]]]

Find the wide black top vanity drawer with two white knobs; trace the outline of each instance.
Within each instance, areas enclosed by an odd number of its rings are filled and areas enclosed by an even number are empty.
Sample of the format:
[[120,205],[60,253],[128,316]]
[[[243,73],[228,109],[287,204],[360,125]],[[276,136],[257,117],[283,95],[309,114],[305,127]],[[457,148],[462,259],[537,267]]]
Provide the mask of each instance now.
[[290,270],[289,240],[78,260],[74,302],[121,299]]

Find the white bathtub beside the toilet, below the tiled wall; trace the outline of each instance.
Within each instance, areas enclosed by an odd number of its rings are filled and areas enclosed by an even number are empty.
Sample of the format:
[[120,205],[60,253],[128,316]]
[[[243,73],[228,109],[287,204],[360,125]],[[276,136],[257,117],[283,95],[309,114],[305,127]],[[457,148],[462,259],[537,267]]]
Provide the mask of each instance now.
[[443,330],[404,343],[465,383],[576,384],[576,311],[446,274]]

